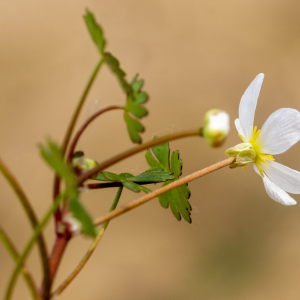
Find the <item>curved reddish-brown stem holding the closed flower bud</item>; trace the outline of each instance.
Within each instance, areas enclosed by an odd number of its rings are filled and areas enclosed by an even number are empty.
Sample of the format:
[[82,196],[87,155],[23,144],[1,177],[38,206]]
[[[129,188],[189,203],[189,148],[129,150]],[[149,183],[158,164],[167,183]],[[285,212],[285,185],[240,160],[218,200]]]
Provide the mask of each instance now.
[[183,137],[188,137],[188,136],[202,136],[202,129],[198,129],[198,130],[190,130],[190,131],[184,131],[184,132],[179,132],[179,133],[175,133],[175,134],[170,134],[167,136],[164,136],[162,138],[158,138],[152,141],[149,141],[145,144],[139,145],[137,147],[134,147],[130,150],[124,151],[102,163],[100,163],[99,165],[97,165],[96,167],[94,167],[93,169],[83,173],[82,175],[80,175],[77,179],[77,184],[78,186],[80,186],[85,180],[89,179],[90,177],[92,177],[93,175],[97,174],[98,172],[106,169],[107,167],[123,160],[124,158],[127,158],[133,154],[136,154],[138,152],[141,152],[145,149],[151,148],[153,146],[159,145],[161,143],[164,142],[168,142],[168,141],[172,141],[172,140],[176,140],[176,139],[180,139]]

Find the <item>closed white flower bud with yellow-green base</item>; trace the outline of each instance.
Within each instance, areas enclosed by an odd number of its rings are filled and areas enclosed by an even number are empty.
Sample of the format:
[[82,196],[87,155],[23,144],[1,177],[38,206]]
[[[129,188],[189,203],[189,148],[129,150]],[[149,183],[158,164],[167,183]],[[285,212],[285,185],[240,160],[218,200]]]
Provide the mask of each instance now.
[[229,128],[229,115],[225,111],[211,109],[205,114],[203,137],[209,146],[221,146],[229,133]]

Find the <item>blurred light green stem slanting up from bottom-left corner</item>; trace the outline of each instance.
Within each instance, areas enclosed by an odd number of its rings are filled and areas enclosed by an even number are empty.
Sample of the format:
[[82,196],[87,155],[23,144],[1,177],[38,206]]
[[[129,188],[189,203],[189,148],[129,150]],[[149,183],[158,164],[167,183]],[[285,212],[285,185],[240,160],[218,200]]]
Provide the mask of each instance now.
[[25,246],[22,254],[19,256],[17,266],[15,267],[15,270],[14,270],[14,272],[13,272],[11,278],[10,278],[8,288],[7,288],[6,294],[5,294],[5,299],[6,300],[10,299],[11,296],[12,296],[13,287],[16,283],[16,279],[18,277],[18,274],[19,274],[19,272],[22,268],[22,265],[24,264],[24,262],[25,262],[25,260],[28,256],[28,254],[30,253],[30,250],[32,249],[37,237],[39,236],[42,229],[45,227],[45,225],[49,221],[52,214],[57,210],[57,208],[59,207],[59,205],[62,202],[63,198],[64,198],[63,194],[59,195],[57,197],[57,199],[54,201],[54,203],[52,204],[51,208],[48,210],[48,212],[46,213],[46,215],[44,216],[42,221],[35,227],[34,233],[31,236],[30,240],[28,241],[27,245]]

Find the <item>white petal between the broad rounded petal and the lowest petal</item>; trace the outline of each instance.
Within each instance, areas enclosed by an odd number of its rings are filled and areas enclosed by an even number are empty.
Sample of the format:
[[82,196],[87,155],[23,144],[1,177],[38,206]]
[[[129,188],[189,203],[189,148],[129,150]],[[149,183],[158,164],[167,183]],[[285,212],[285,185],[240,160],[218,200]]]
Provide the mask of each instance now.
[[269,179],[281,189],[300,194],[300,172],[270,160],[261,163],[261,166]]

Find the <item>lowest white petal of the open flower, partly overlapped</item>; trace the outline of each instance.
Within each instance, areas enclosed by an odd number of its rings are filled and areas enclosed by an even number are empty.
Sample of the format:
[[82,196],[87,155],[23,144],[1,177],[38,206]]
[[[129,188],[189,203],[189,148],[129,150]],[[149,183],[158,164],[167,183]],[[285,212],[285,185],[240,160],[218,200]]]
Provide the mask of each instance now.
[[[254,170],[258,175],[260,175],[257,167],[253,164]],[[261,175],[260,175],[261,176]],[[269,197],[271,197],[276,202],[279,202],[283,205],[295,205],[297,202],[293,199],[288,193],[283,189],[278,187],[274,182],[272,182],[267,176],[262,177],[265,189]]]

